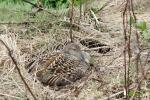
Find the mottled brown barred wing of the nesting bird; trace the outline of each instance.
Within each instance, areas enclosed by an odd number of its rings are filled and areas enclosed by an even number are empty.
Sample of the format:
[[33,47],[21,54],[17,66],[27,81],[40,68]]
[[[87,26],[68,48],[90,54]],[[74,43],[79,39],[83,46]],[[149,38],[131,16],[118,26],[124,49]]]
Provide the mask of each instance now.
[[81,62],[69,59],[63,53],[43,59],[43,62],[36,75],[46,85],[66,85],[83,75],[82,70],[77,69]]

